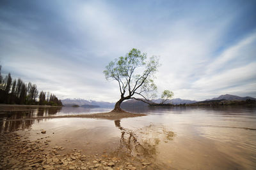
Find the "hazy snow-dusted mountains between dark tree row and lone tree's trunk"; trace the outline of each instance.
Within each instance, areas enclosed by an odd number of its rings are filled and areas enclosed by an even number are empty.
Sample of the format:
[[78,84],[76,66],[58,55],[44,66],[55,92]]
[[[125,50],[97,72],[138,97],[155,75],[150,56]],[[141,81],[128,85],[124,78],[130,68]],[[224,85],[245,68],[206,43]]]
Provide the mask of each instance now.
[[61,100],[62,104],[64,106],[72,106],[74,104],[78,106],[87,105],[88,106],[99,106],[100,108],[113,108],[115,106],[115,103],[109,103],[104,101],[88,101],[84,99],[63,99]]

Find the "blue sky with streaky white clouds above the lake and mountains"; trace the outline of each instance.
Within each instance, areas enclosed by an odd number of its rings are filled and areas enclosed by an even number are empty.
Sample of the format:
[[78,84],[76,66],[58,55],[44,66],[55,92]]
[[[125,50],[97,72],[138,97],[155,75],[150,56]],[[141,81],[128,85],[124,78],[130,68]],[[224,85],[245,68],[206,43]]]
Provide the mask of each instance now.
[[159,56],[157,94],[256,97],[256,1],[0,1],[0,64],[60,99],[115,102],[102,71],[132,48]]

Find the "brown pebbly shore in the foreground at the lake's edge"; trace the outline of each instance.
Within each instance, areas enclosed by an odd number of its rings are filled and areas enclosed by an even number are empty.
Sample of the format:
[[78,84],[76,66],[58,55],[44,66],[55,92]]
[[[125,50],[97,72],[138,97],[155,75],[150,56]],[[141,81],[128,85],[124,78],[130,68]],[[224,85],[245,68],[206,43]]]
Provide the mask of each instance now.
[[88,155],[81,150],[51,145],[51,137],[38,132],[36,140],[29,133],[0,134],[0,169],[158,169],[150,157],[128,153]]

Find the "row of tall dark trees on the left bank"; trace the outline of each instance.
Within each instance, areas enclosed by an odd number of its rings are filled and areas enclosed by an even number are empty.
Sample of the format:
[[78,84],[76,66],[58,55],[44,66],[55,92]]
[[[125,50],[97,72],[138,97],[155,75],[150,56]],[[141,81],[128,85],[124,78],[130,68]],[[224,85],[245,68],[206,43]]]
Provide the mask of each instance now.
[[47,92],[46,97],[46,92],[42,91],[38,94],[36,85],[31,82],[26,84],[20,78],[12,80],[10,73],[3,78],[0,66],[0,103],[62,106],[61,101],[54,94]]

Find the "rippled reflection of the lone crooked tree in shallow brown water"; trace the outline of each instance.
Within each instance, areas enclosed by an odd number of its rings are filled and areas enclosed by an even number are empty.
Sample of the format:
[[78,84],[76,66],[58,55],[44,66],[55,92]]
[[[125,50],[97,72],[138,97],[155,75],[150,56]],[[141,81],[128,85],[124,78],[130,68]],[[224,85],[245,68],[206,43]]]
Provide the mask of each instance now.
[[143,155],[146,158],[154,158],[157,154],[157,146],[161,141],[168,142],[175,136],[172,131],[167,131],[163,126],[149,125],[131,131],[121,126],[120,120],[115,120],[115,126],[121,131],[120,147],[116,151],[118,156]]

